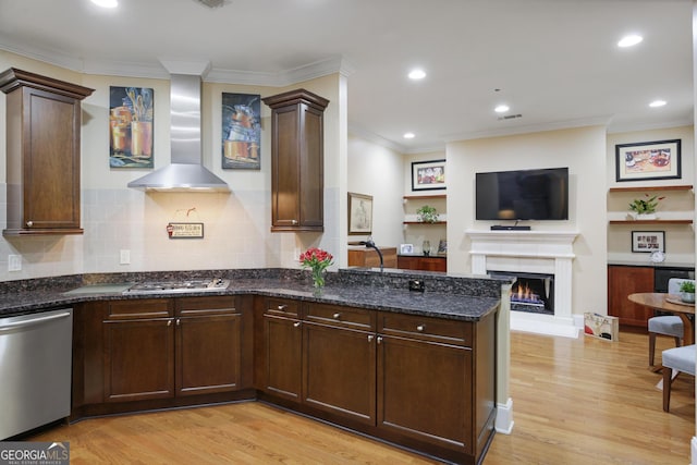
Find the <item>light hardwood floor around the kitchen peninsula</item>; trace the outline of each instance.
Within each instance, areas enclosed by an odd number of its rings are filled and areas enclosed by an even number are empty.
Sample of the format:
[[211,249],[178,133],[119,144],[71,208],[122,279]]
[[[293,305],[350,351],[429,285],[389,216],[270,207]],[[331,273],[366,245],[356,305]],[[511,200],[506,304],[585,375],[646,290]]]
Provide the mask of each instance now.
[[[658,363],[671,344],[659,338]],[[645,333],[612,343],[513,332],[511,347],[515,426],[496,435],[486,465],[689,463],[694,378],[675,380],[664,413]],[[70,441],[72,464],[437,463],[253,402],[87,419],[27,440]]]

